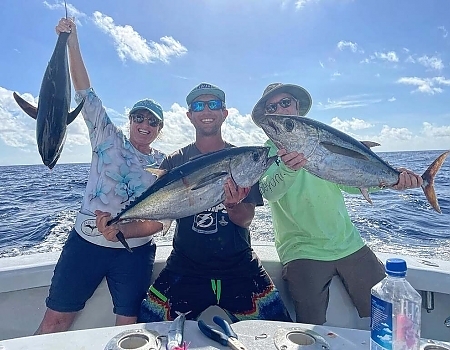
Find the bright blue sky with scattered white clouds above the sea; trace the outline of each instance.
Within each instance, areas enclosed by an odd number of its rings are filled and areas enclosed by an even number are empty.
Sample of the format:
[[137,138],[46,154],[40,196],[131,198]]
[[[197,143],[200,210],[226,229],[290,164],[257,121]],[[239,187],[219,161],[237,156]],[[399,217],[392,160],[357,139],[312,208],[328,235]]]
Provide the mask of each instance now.
[[[35,121],[12,98],[37,102],[64,16],[60,1],[3,0],[0,12],[0,165],[40,164]],[[375,151],[450,149],[450,2],[437,0],[78,0],[81,50],[97,94],[118,125],[141,98],[166,122],[154,145],[191,142],[185,97],[200,82],[223,88],[225,138],[266,137],[250,113],[272,82],[312,95],[308,116]],[[72,96],[73,96],[72,91]],[[74,107],[72,103],[72,107]],[[87,128],[68,128],[59,163],[89,162]]]

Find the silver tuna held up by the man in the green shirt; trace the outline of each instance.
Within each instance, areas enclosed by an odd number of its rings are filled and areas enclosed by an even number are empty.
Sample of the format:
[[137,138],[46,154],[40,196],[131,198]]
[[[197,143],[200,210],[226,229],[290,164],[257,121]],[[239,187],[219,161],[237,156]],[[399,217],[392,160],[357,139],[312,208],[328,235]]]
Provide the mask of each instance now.
[[[278,148],[303,153],[304,169],[324,180],[357,187],[372,203],[369,187],[392,187],[400,172],[362,143],[316,120],[288,115],[265,115],[260,126]],[[376,145],[376,144],[374,144]],[[441,212],[434,191],[434,177],[449,151],[441,154],[422,175],[422,189],[431,206]]]

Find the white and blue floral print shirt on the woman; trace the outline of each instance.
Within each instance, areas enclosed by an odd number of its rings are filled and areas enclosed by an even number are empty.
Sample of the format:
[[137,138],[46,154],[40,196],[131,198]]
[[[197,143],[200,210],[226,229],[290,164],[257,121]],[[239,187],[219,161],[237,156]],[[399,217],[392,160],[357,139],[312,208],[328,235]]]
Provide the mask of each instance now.
[[[111,122],[102,101],[92,88],[76,92],[77,103],[83,98],[82,114],[89,129],[92,161],[80,212],[95,219],[94,212],[98,209],[110,212],[114,217],[153,184],[156,176],[145,168],[158,168],[164,154],[153,148],[151,154],[143,154],[134,148],[122,130]],[[91,231],[77,229],[83,238],[92,243],[122,247],[118,242],[107,241],[96,229]],[[132,238],[127,241],[130,246],[137,246],[150,239]]]

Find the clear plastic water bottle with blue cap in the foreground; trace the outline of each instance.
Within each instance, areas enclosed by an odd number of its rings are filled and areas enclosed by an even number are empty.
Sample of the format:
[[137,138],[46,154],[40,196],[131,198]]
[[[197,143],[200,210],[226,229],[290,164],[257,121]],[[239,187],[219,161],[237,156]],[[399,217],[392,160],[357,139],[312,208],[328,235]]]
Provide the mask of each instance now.
[[406,261],[388,259],[371,292],[371,350],[419,350],[422,297],[406,280]]

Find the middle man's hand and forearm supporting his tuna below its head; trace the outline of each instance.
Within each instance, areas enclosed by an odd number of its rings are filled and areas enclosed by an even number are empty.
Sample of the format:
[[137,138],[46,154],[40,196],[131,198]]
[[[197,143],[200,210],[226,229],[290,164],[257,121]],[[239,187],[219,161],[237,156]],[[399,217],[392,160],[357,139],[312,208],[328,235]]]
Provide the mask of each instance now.
[[239,187],[232,179],[228,179],[224,186],[228,217],[236,225],[248,228],[255,216],[255,204],[242,202],[250,193],[251,187]]

